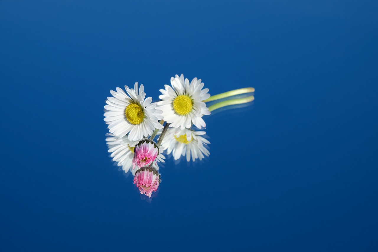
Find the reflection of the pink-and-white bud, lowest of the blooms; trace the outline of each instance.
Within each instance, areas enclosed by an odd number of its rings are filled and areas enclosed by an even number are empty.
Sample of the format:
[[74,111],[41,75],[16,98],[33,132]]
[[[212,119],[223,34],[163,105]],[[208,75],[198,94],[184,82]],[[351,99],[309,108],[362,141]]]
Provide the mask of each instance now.
[[141,194],[146,193],[151,197],[153,191],[158,190],[160,184],[160,174],[153,167],[140,168],[135,173],[134,184],[139,188]]

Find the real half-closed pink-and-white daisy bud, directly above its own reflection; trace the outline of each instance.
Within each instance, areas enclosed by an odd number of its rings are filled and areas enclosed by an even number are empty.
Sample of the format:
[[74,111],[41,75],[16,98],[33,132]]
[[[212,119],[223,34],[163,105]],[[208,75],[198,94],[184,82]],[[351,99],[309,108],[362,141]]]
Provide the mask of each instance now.
[[134,148],[133,169],[135,166],[141,168],[150,165],[158,155],[159,148],[156,143],[148,139],[140,141]]

